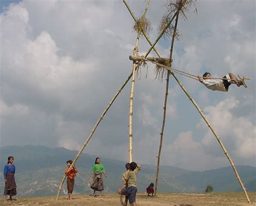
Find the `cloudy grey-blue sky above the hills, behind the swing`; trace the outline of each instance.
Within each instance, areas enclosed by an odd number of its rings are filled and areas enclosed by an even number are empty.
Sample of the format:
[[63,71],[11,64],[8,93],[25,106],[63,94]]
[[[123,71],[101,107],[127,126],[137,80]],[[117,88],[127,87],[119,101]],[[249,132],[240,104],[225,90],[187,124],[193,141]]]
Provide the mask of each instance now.
[[[166,11],[151,1],[151,41]],[[142,16],[146,1],[127,1]],[[1,146],[45,145],[80,150],[98,118],[131,73],[137,34],[123,1],[0,2]],[[248,88],[231,85],[211,91],[188,77],[177,77],[217,131],[235,165],[255,166],[255,1],[197,1],[180,18],[173,68],[213,77],[232,72],[251,77]],[[150,46],[139,40],[139,55]],[[156,48],[169,57],[170,38]],[[150,56],[156,56],[154,52]],[[106,113],[84,152],[128,161],[127,83]],[[133,160],[157,164],[165,80],[154,65],[141,68],[133,103]],[[75,157],[74,157],[75,158]],[[161,165],[195,171],[229,166],[217,139],[171,77]]]

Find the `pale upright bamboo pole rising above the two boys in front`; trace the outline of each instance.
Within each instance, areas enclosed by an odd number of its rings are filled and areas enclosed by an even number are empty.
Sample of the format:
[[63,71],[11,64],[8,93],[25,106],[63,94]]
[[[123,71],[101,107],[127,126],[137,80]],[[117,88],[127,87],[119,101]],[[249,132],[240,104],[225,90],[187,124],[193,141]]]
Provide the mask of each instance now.
[[[146,8],[144,10],[142,18],[145,18],[145,16],[146,16],[147,8],[149,8],[149,3],[150,3],[150,0],[147,0],[147,5],[146,5]],[[139,29],[138,35],[137,35],[137,38],[136,38],[135,47],[133,49],[133,56],[135,56],[135,57],[138,56],[138,44],[139,44],[139,37],[140,37],[141,31],[142,30]],[[131,83],[130,105],[129,105],[129,108],[130,108],[130,112],[129,112],[129,162],[132,162],[133,94],[134,94],[135,72],[136,72],[137,68],[138,68],[138,62],[136,63],[135,61],[133,61],[133,65],[132,65],[132,83]]]

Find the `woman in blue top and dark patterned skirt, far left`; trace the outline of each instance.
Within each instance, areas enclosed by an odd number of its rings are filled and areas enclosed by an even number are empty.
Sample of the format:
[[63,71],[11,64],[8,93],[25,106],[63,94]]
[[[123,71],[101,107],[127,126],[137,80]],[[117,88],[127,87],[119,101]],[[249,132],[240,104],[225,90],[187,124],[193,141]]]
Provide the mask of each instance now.
[[15,182],[15,166],[12,165],[14,163],[14,157],[8,157],[7,165],[4,166],[4,200],[6,200],[6,195],[10,196],[10,201],[12,201],[12,196],[17,195],[16,191],[16,182]]

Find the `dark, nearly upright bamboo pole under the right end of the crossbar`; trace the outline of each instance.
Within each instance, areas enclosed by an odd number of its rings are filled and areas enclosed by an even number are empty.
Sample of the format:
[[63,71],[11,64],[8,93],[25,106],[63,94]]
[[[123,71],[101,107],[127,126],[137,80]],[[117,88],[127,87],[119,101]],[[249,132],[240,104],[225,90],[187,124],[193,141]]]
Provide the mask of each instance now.
[[[179,18],[179,10],[176,16],[175,20],[175,26],[173,29],[173,34],[172,34],[172,41],[171,41],[171,49],[170,49],[170,67],[172,66],[172,52],[173,52],[173,44],[174,44],[174,39],[176,35],[176,30],[177,30],[177,25],[178,25],[178,18]],[[161,148],[163,146],[163,135],[164,135],[164,126],[165,126],[165,118],[166,118],[166,104],[167,104],[167,98],[169,94],[169,77],[170,77],[170,71],[168,70],[167,72],[167,78],[166,78],[166,88],[165,88],[165,100],[164,100],[164,114],[163,114],[163,123],[161,127],[161,132],[160,132],[160,143],[159,143],[159,150],[158,150],[158,156],[157,156],[157,172],[156,172],[156,186],[155,186],[155,192],[154,195],[157,195],[157,189],[158,189],[158,174],[159,174],[159,167],[160,167],[160,155],[161,155]]]

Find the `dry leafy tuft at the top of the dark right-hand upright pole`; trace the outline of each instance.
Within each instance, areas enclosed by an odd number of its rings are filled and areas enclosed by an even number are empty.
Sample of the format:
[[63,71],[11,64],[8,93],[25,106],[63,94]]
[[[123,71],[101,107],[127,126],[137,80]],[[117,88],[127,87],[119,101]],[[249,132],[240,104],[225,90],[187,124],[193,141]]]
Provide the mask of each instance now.
[[[179,15],[183,17],[184,19],[187,19],[185,13],[190,11],[190,9],[193,7],[194,12],[197,12],[197,0],[169,0],[167,3],[164,5],[166,6],[167,11],[165,12],[164,16],[161,19],[160,25],[158,27],[158,32],[161,33],[161,31],[164,30],[166,27],[167,23],[170,22],[170,19],[172,18],[172,15],[176,12],[179,11]],[[165,33],[163,34],[164,38],[170,37],[172,35],[174,26],[170,25]],[[175,38],[179,40],[180,34],[176,30]]]

